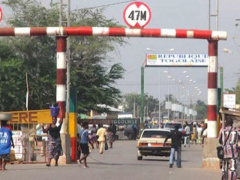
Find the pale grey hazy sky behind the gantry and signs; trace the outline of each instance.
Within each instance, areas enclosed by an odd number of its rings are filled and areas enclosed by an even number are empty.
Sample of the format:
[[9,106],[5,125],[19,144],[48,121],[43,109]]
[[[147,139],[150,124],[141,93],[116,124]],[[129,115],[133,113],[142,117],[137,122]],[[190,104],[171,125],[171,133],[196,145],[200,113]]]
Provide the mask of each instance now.
[[[37,0],[48,4],[49,0]],[[53,0],[59,2],[59,0]],[[66,0],[64,0],[66,1]],[[1,1],[0,1],[1,2]],[[105,6],[104,14],[107,18],[116,19],[119,24],[127,27],[123,20],[125,7],[133,1],[129,0],[71,0],[71,9]],[[145,28],[158,29],[198,29],[209,28],[208,0],[141,0],[151,10],[152,17]],[[216,14],[216,1],[212,0],[211,14]],[[0,3],[1,6],[1,3]],[[8,14],[3,8],[4,13]],[[236,19],[240,19],[240,1],[219,0],[219,31],[227,31],[228,39],[218,43],[218,63],[224,68],[224,89],[235,87],[239,78],[240,65],[240,29],[236,26]],[[4,17],[3,17],[4,20]],[[240,21],[239,21],[240,23]],[[0,26],[6,26],[4,22]],[[216,18],[211,17],[211,30],[216,30]],[[124,79],[118,80],[116,87],[125,93],[141,93],[141,66],[147,53],[157,54],[207,54],[208,42],[196,39],[166,39],[166,38],[128,38],[128,44],[117,47],[115,52],[109,53],[111,63],[121,63],[126,72]],[[225,53],[224,48],[231,50]],[[148,49],[148,50],[147,50]],[[174,49],[174,51],[170,51]],[[229,51],[230,52],[230,51]],[[164,71],[168,71],[168,78]],[[183,73],[185,72],[185,73]],[[187,77],[186,77],[187,76]],[[191,95],[186,95],[179,83],[181,80]],[[190,83],[195,81],[195,83]],[[173,94],[183,103],[200,99],[207,103],[207,68],[206,67],[154,67],[145,68],[145,93],[161,101],[167,94]],[[196,88],[197,87],[197,88]],[[196,89],[199,89],[198,91]],[[201,94],[198,95],[198,92]]]

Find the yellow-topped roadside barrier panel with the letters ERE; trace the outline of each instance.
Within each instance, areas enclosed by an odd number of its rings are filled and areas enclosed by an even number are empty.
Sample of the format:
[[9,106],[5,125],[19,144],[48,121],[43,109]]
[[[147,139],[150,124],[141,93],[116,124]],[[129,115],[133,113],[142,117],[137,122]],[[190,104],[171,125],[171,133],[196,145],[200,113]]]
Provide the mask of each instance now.
[[4,112],[0,113],[0,121],[3,114],[11,114],[8,124],[15,144],[11,152],[12,163],[45,163],[47,135],[42,133],[39,123],[51,122],[50,111],[46,109]]

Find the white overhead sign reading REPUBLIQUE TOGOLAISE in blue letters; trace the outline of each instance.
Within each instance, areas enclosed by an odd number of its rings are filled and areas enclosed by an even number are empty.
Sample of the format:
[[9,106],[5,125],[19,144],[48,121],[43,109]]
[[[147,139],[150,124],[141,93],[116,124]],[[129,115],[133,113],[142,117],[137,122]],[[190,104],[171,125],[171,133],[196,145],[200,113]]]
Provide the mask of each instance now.
[[207,67],[207,54],[147,54],[147,67]]

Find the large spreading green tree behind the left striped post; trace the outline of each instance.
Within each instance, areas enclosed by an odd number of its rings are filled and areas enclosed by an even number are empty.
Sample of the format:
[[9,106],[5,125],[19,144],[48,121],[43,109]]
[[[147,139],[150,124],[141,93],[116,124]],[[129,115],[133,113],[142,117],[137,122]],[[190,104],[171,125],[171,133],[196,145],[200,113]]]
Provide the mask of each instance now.
[[[14,27],[54,27],[58,26],[58,4],[50,3],[50,7],[34,3],[32,0],[4,1],[11,9],[12,17],[9,25]],[[103,10],[79,10],[72,12],[72,26],[119,26],[113,19],[106,19]],[[71,39],[71,85],[78,93],[78,110],[89,111],[97,109],[97,104],[113,105],[119,100],[120,91],[114,87],[115,80],[123,77],[124,69],[121,64],[107,65],[107,53],[124,45],[120,37],[69,37]],[[0,59],[1,70],[10,62],[6,57],[7,50],[11,49],[12,71],[8,79],[15,79],[18,72],[21,82],[18,91],[12,86],[7,89],[4,81],[0,82],[0,110],[22,110],[25,105],[26,73],[29,81],[29,109],[47,108],[55,101],[56,92],[56,40],[55,37],[6,37],[1,38]],[[5,47],[5,49],[3,48]],[[3,52],[2,52],[3,51]],[[14,72],[14,73],[13,73]],[[1,73],[1,79],[2,79]],[[10,96],[3,92],[11,92],[14,96],[15,107],[9,101]],[[18,94],[17,94],[18,93]],[[5,96],[4,96],[5,95]]]

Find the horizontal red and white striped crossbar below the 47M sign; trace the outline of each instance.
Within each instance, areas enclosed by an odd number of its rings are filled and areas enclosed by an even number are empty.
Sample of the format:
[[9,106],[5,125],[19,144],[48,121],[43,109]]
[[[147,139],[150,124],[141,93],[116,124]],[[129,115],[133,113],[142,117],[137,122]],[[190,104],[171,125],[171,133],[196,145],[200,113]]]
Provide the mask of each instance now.
[[226,40],[227,32],[185,29],[129,29],[110,27],[15,27],[0,28],[0,36],[126,36]]

